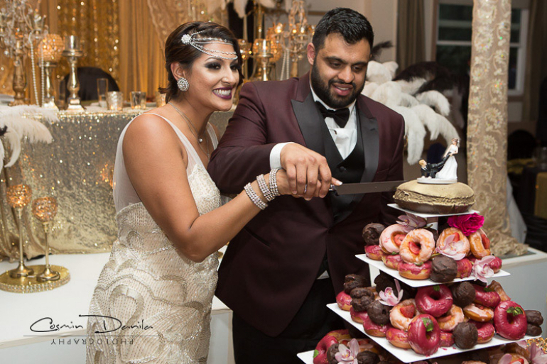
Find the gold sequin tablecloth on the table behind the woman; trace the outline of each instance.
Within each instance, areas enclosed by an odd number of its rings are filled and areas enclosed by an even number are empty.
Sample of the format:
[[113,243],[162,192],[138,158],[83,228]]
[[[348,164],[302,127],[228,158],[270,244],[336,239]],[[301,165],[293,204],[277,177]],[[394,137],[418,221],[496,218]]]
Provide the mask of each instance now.
[[[59,121],[46,123],[53,143],[22,143],[16,165],[0,175],[0,260],[18,258],[18,228],[6,203],[6,186],[28,184],[32,199],[53,196],[58,214],[53,221],[53,253],[109,251],[117,237],[112,171],[117,140],[126,123],[138,113],[60,111]],[[224,131],[231,112],[215,113],[211,122]],[[44,234],[31,205],[23,211],[24,250],[28,258],[43,254]],[[55,263],[55,260],[53,260]]]

